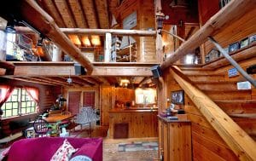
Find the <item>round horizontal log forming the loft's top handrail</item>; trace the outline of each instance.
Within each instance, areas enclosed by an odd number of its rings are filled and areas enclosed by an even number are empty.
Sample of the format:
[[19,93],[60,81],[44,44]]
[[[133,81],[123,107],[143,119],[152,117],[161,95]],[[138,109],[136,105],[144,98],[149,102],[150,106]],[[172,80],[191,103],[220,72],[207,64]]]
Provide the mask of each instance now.
[[[0,30],[4,30],[5,26],[0,26]],[[35,33],[31,28],[25,26],[15,26],[17,33],[33,34]],[[78,34],[78,35],[99,35],[105,36],[106,33],[112,35],[127,35],[138,37],[155,37],[156,31],[144,31],[144,30],[123,30],[123,29],[90,29],[90,28],[60,28],[61,32],[66,34]]]

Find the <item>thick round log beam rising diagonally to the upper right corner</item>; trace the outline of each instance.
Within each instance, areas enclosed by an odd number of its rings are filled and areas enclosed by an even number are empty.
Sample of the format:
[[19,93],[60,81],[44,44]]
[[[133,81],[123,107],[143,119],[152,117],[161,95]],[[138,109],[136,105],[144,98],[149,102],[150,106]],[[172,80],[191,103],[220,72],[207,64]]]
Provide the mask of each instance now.
[[188,55],[193,49],[199,47],[201,43],[207,41],[208,36],[214,36],[216,32],[222,30],[226,26],[230,26],[234,21],[239,19],[243,14],[256,7],[255,0],[233,0],[228,3],[224,9],[221,9],[217,14],[214,14],[207,23],[201,27],[194,35],[189,37],[189,40],[175,51],[173,55],[164,61],[160,68],[163,70],[168,66],[172,66],[174,62]]

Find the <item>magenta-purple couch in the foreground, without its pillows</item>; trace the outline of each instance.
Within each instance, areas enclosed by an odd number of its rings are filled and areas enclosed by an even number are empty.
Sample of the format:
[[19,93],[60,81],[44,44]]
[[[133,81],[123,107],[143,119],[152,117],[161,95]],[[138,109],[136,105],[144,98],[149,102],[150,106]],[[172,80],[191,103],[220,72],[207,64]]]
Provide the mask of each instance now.
[[[40,137],[32,139],[21,139],[15,141],[10,147],[8,161],[46,161],[54,155],[65,138],[62,137]],[[86,155],[93,161],[102,161],[102,138],[71,138],[67,141],[79,150],[73,153],[73,157]]]

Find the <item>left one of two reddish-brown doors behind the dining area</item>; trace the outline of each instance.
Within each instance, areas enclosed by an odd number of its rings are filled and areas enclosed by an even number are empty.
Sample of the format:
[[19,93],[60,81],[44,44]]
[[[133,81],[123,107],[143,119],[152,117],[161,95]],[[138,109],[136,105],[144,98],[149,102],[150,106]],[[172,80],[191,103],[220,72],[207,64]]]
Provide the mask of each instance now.
[[68,111],[73,114],[79,113],[81,91],[68,92]]

